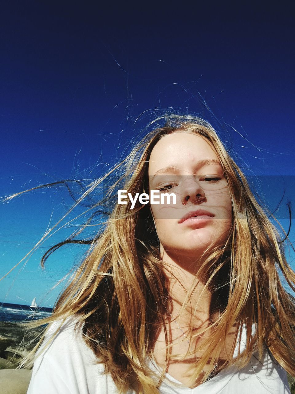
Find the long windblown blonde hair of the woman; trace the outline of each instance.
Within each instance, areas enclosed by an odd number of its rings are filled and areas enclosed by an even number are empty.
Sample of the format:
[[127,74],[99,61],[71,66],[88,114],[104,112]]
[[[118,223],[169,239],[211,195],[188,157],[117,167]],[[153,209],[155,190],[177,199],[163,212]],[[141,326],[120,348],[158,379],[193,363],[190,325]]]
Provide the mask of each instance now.
[[[121,205],[113,201],[114,191],[119,188],[131,195],[148,190],[147,166],[153,147],[163,136],[182,130],[201,136],[214,147],[228,182],[233,214],[224,247],[212,248],[202,264],[209,274],[206,287],[210,286],[221,300],[221,314],[210,326],[214,334],[205,343],[203,356],[192,366],[193,377],[199,376],[206,364],[213,369],[220,354],[218,344],[225,343],[235,323],[246,327],[246,348],[235,360],[229,354],[224,366],[235,362],[242,368],[254,351],[262,359],[266,346],[278,363],[295,376],[295,298],[282,286],[279,271],[293,291],[295,273],[286,261],[277,228],[257,203],[245,176],[209,123],[193,115],[168,113],[153,121],[155,124],[158,127],[154,126],[111,171],[92,182],[79,199],[80,203],[108,177],[118,177],[120,169],[121,176],[105,190],[100,201],[104,207],[112,203],[105,227],[93,240],[84,241],[90,244],[87,256],[57,300],[52,316],[31,322],[30,326],[75,315],[77,321],[85,323],[85,343],[105,365],[105,373],[111,374],[120,394],[133,383],[138,393],[159,393],[159,381],[147,365],[155,332],[161,326],[166,337],[166,363],[171,357],[164,323],[166,308],[170,307],[169,281],[160,258],[159,239],[148,205],[137,201],[131,210],[129,202]],[[68,239],[53,246],[43,256],[42,264],[52,251],[69,242],[83,243]],[[31,361],[43,337],[31,352]],[[202,381],[207,377],[205,374]]]

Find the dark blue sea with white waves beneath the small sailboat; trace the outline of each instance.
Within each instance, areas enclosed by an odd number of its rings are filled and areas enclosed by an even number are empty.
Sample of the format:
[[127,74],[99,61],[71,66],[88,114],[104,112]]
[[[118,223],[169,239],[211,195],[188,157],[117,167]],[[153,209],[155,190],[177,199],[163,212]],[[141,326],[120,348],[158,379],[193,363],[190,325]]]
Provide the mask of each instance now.
[[46,318],[52,314],[52,308],[37,307],[29,305],[0,303],[0,322],[23,322]]

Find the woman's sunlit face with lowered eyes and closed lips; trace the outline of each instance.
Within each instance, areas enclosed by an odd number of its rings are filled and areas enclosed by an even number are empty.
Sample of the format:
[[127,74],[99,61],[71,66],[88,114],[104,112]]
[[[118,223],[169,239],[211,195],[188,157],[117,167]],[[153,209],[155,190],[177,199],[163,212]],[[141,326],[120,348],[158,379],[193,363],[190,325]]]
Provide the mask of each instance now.
[[149,190],[176,195],[176,204],[150,204],[162,257],[197,259],[208,246],[225,243],[232,202],[218,156],[205,139],[181,131],[164,136],[151,152],[148,174]]

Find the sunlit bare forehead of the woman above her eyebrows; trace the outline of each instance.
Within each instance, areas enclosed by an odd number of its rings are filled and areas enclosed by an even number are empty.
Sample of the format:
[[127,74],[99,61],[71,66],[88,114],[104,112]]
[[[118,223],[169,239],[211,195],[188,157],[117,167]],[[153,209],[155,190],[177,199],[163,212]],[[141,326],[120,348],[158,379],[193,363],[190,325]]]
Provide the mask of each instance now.
[[[184,169],[210,159],[220,162],[210,143],[203,137],[191,132],[174,132],[160,139],[151,151],[149,175],[165,166]],[[214,165],[213,162],[211,165]]]

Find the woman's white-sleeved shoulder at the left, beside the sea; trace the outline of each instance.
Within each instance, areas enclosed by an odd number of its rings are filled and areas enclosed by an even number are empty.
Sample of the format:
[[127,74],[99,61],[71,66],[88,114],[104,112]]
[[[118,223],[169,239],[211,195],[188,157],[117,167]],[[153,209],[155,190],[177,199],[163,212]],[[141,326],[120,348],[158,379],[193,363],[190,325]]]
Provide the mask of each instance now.
[[74,317],[48,325],[37,351],[28,394],[108,393],[108,385],[113,384],[85,344],[82,330],[83,323]]

